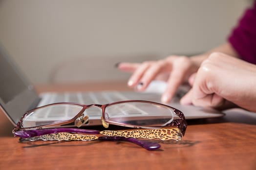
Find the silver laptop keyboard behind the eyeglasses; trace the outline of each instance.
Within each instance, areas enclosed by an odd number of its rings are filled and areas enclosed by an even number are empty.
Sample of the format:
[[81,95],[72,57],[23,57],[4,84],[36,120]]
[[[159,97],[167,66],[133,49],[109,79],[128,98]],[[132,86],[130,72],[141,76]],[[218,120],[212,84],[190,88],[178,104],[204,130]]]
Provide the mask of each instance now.
[[[171,102],[178,102],[186,92],[179,90]],[[126,100],[146,100],[151,102],[161,102],[161,94],[158,93],[139,93],[132,91],[101,91],[101,92],[76,92],[76,93],[45,93],[39,106],[56,102],[76,102],[82,104],[107,104],[111,102]],[[65,113],[65,112],[63,112]],[[124,113],[125,114],[125,113]],[[85,115],[89,117],[102,116],[101,110],[91,107],[85,110]],[[42,114],[45,119],[59,118],[57,114]],[[62,115],[65,117],[65,115]]]

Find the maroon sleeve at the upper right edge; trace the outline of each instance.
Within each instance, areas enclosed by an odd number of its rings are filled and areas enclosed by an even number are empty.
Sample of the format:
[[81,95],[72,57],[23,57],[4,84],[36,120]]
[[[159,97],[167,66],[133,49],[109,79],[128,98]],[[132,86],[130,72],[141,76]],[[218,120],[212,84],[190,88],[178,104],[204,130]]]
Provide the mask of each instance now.
[[245,11],[228,40],[241,59],[256,64],[256,1]]

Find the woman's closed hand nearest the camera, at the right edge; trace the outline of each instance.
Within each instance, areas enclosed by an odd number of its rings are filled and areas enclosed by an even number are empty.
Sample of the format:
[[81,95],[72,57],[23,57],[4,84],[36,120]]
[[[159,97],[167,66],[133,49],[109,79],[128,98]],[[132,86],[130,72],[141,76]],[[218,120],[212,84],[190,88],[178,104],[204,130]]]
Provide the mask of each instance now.
[[256,111],[256,65],[214,52],[190,78],[183,104],[222,107],[226,101]]

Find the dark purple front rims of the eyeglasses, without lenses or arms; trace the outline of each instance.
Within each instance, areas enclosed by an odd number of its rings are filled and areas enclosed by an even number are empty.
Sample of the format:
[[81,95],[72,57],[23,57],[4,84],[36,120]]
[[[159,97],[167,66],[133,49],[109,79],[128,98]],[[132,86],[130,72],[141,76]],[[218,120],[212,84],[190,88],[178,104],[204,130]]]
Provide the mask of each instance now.
[[[163,127],[163,126],[134,126],[134,125],[130,126],[130,125],[127,125],[125,123],[120,123],[120,122],[114,122],[114,121],[106,120],[106,118],[105,118],[105,110],[106,110],[107,106],[115,105],[115,104],[120,104],[120,103],[129,103],[129,102],[149,103],[149,104],[159,105],[161,107],[165,107],[165,108],[168,108],[168,109],[172,109],[174,114],[177,115],[180,119],[172,120],[171,123],[165,125],[165,127],[166,126],[177,127],[177,128],[180,129],[180,132],[182,133],[182,135],[183,136],[185,135],[185,131],[186,131],[186,128],[187,128],[187,122],[185,120],[184,114],[180,110],[178,110],[176,108],[173,108],[173,107],[171,107],[169,105],[162,104],[162,103],[150,102],[150,101],[142,101],[142,100],[129,100],[129,101],[111,102],[111,103],[108,103],[108,104],[88,104],[88,105],[80,104],[80,103],[74,103],[74,102],[58,102],[58,103],[47,104],[47,105],[44,105],[44,106],[41,106],[41,107],[37,107],[37,108],[34,108],[34,109],[29,110],[28,112],[26,112],[22,116],[20,121],[17,123],[15,128],[13,129],[13,134],[15,134],[15,132],[21,131],[21,130],[45,129],[45,128],[49,128],[49,127],[60,126],[60,125],[65,125],[65,124],[72,123],[76,119],[78,119],[79,117],[81,117],[83,115],[83,113],[85,112],[85,109],[87,109],[87,108],[89,108],[91,106],[96,106],[96,107],[101,108],[102,109],[102,117],[109,124],[118,125],[118,126],[125,126],[125,127],[132,127],[132,128],[154,128],[154,129],[158,129],[158,128],[162,128]],[[50,124],[43,125],[43,126],[33,126],[33,127],[28,127],[28,128],[23,128],[22,127],[23,119],[25,117],[27,117],[28,115],[30,115],[31,113],[33,113],[34,110],[37,110],[37,109],[40,109],[40,108],[44,108],[44,107],[48,107],[48,106],[51,106],[51,105],[58,105],[58,104],[73,104],[73,105],[82,106],[83,108],[81,109],[81,111],[74,118],[69,119],[69,120],[64,120],[64,121],[57,122],[57,123],[50,123]]]

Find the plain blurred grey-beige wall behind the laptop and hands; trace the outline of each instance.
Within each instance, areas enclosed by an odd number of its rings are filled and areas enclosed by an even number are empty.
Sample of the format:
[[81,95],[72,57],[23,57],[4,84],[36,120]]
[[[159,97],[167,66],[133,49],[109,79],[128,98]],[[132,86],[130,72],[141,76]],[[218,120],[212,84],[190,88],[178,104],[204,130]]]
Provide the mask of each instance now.
[[252,0],[0,0],[0,42],[34,84],[125,80],[117,62],[225,42]]

